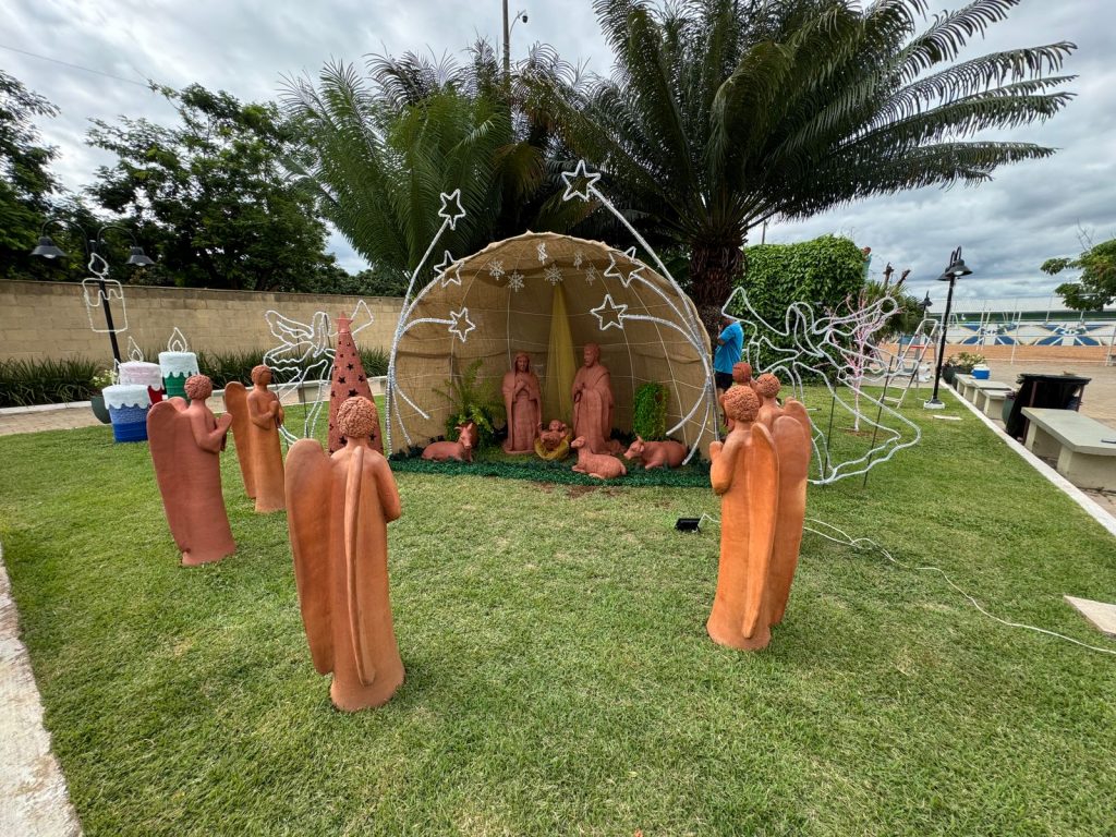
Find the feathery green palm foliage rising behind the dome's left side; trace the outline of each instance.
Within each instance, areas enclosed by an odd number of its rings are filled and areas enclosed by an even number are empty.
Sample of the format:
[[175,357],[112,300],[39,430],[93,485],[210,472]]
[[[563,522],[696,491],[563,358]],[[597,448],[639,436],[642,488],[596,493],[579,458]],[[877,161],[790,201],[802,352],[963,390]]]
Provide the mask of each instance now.
[[372,58],[367,76],[336,64],[316,84],[292,79],[286,109],[305,143],[305,180],[326,218],[389,277],[422,259],[442,223],[443,192],[460,189],[466,211],[439,246],[456,257],[527,229],[568,229],[587,208],[560,200],[552,161],[562,146],[528,84],[538,77],[579,88],[574,68],[545,46],[509,83],[484,41],[465,65],[407,54]]

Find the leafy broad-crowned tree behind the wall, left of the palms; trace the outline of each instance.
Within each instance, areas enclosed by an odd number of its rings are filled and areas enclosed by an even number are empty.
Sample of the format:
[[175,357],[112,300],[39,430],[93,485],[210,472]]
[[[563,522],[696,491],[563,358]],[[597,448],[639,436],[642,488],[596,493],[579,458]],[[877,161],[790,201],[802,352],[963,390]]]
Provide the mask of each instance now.
[[148,281],[246,290],[331,287],[346,273],[324,252],[314,196],[283,164],[294,135],[272,104],[241,104],[192,85],[156,88],[173,127],[95,121],[88,142],[117,155],[89,194],[157,256]]

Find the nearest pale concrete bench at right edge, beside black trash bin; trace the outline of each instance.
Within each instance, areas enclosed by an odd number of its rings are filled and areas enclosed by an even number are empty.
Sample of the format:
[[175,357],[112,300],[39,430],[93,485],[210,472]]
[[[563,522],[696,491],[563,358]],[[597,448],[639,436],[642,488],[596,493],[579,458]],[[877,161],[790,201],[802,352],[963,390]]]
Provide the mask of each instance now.
[[[1027,449],[1078,488],[1116,490],[1116,429],[1076,410],[1023,407]],[[1110,441],[1106,441],[1110,440]]]

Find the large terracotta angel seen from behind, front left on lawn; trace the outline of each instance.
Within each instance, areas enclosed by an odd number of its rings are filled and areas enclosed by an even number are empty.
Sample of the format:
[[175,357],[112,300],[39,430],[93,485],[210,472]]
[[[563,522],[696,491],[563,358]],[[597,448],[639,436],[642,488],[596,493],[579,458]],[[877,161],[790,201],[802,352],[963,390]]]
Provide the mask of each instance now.
[[287,455],[287,522],[295,581],[314,667],[333,673],[329,696],[355,712],[386,703],[403,683],[387,587],[387,523],[400,492],[371,445],[376,406],[363,396],[337,411],[346,439],[333,456],[302,439]]

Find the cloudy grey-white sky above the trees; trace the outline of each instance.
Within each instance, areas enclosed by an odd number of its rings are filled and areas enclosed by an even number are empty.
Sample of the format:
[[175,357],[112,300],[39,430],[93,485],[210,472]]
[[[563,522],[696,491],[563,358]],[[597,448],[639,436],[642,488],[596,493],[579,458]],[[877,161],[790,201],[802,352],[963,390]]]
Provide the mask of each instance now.
[[[935,10],[958,4],[931,0]],[[4,7],[0,67],[61,108],[40,129],[60,150],[57,171],[71,189],[109,162],[85,145],[88,119],[173,122],[145,79],[173,87],[196,81],[244,100],[275,98],[283,76],[316,75],[330,59],[460,54],[478,36],[497,41],[501,29],[500,0],[7,0]],[[512,31],[513,57],[541,40],[567,60],[609,69],[591,0],[517,0],[511,11],[520,8],[529,19]],[[767,240],[844,233],[872,247],[874,272],[887,261],[911,268],[911,289],[934,299],[944,295],[934,278],[960,244],[974,275],[959,296],[1049,294],[1058,280],[1039,272],[1046,258],[1078,252],[1081,231],[1096,241],[1116,235],[1116,0],[1023,0],[969,50],[1058,40],[1078,46],[1065,69],[1079,76],[1069,88],[1077,98],[1047,124],[1007,135],[1058,147],[1055,157],[1002,169],[978,189],[918,190],[775,223]],[[347,269],[363,267],[343,238],[333,246]]]

